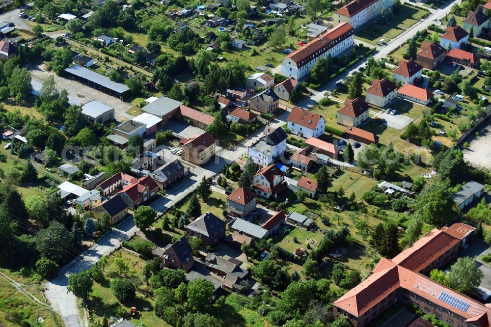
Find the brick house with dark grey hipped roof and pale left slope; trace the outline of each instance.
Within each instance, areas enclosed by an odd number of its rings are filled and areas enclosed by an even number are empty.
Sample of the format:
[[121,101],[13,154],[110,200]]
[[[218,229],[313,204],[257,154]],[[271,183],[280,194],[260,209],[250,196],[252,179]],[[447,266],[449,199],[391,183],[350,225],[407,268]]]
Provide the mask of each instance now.
[[215,245],[225,237],[225,221],[207,212],[186,226],[187,237],[199,237],[203,246]]

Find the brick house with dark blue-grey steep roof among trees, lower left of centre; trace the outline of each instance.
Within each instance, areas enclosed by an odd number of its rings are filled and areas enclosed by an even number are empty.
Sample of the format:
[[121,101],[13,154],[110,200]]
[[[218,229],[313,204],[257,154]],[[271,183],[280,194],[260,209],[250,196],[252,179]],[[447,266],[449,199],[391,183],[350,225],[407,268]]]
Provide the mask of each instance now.
[[166,268],[191,271],[194,266],[194,258],[186,236],[181,237],[176,243],[164,247],[162,261]]

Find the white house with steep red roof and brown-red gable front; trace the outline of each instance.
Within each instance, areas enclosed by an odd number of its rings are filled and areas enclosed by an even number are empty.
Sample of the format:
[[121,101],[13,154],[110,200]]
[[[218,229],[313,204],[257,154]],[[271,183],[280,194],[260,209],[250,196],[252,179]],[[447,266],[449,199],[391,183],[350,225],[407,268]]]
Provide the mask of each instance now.
[[283,172],[275,165],[269,165],[260,169],[252,179],[252,186],[257,195],[269,199],[277,198],[286,187],[283,184]]

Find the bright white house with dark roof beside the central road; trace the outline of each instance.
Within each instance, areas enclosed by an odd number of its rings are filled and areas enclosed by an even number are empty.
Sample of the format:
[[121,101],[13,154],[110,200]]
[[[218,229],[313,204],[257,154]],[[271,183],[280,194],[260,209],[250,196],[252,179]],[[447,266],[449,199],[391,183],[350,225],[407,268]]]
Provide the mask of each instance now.
[[267,126],[263,133],[265,136],[260,137],[249,146],[247,157],[254,163],[266,167],[286,151],[286,139],[288,136],[281,127],[273,130],[270,126]]

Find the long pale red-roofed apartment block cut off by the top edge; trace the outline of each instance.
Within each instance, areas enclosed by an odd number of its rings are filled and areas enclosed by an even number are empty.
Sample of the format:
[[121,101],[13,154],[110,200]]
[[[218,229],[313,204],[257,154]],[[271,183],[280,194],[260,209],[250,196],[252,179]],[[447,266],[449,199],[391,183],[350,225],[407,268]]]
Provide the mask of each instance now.
[[379,17],[382,10],[394,6],[395,0],[354,0],[334,13],[334,24],[349,23],[357,29]]

